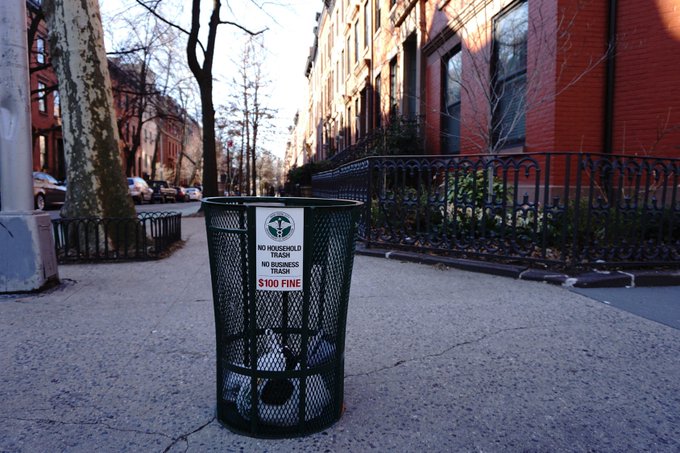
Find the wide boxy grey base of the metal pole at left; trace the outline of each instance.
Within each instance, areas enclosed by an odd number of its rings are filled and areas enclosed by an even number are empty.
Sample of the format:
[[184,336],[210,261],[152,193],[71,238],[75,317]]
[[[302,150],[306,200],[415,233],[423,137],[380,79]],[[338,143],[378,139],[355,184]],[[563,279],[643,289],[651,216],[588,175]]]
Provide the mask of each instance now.
[[59,283],[49,214],[0,212],[0,293],[38,291]]

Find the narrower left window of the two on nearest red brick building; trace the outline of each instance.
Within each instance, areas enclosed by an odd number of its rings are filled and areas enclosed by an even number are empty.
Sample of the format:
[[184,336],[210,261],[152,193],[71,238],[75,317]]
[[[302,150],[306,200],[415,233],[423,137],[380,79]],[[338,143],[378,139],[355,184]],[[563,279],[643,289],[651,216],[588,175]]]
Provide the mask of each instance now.
[[442,149],[444,153],[460,153],[460,99],[462,80],[460,51],[444,59],[444,108],[442,109]]

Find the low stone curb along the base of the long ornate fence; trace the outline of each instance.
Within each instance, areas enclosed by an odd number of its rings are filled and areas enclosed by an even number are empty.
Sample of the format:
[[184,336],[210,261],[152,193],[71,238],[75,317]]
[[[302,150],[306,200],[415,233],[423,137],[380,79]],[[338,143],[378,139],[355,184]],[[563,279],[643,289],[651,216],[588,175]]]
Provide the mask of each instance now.
[[534,269],[528,266],[491,263],[446,256],[433,256],[416,252],[366,248],[357,244],[356,254],[373,256],[412,263],[444,265],[455,269],[483,274],[510,277],[518,280],[550,283],[575,288],[635,288],[643,286],[678,286],[680,270],[631,270],[631,271],[598,271],[592,270],[570,276],[556,271]]

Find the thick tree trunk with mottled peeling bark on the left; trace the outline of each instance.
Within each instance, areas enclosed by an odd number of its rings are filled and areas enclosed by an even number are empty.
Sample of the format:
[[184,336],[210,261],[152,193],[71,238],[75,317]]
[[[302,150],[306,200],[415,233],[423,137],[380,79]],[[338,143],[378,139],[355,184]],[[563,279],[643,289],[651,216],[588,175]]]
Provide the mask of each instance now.
[[97,0],[45,0],[59,79],[68,189],[63,217],[136,217],[118,128]]

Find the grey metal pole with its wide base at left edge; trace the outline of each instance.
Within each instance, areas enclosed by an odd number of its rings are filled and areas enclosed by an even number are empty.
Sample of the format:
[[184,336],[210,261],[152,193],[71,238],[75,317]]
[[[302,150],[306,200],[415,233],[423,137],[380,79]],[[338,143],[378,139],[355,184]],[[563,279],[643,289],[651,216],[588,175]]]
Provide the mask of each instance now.
[[33,210],[26,1],[0,1],[0,293],[59,281],[46,213]]

